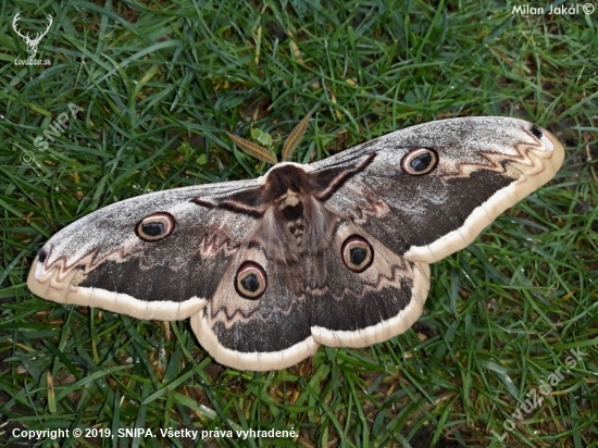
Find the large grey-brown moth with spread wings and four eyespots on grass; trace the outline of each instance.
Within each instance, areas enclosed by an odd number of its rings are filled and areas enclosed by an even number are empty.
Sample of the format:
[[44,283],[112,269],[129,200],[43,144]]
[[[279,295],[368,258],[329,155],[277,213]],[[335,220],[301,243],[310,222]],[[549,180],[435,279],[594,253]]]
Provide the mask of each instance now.
[[48,300],[137,319],[190,318],[205,350],[240,370],[285,369],[320,345],[365,347],[407,331],[428,263],[471,244],[548,182],[564,150],[506,117],[435,121],[263,176],[151,192],[53,236],[27,285]]

